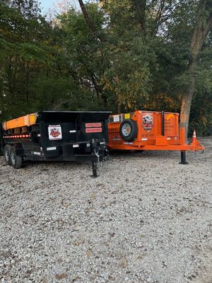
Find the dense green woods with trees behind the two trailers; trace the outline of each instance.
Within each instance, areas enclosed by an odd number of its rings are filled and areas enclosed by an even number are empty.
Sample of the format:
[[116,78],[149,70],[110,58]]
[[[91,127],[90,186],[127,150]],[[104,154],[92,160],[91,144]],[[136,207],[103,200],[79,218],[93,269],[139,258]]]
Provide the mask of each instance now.
[[[212,1],[0,3],[0,120],[40,110],[180,112],[212,134]],[[61,3],[62,5],[62,3]]]

